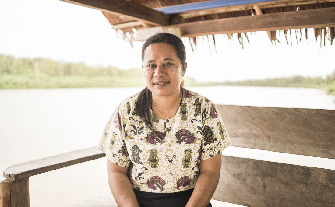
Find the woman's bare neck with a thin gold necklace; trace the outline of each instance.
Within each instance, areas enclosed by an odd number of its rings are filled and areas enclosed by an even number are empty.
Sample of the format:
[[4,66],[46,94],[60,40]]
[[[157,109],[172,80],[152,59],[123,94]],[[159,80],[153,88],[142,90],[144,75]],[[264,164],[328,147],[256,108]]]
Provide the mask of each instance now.
[[[167,117],[173,118],[176,114],[176,110],[179,108],[181,98],[183,99],[183,97],[181,97],[181,94],[182,93],[180,87],[178,87],[178,89],[169,96],[157,96],[152,93],[152,109],[156,117],[164,120],[169,119]],[[157,109],[157,107],[159,110]],[[163,113],[167,117],[165,117],[161,113]]]

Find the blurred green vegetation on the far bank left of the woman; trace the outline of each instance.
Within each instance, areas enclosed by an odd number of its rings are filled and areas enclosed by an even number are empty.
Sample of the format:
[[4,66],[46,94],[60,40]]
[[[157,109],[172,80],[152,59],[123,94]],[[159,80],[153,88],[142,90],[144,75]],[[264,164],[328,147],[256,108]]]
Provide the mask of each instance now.
[[87,66],[0,55],[0,89],[145,86],[141,69]]

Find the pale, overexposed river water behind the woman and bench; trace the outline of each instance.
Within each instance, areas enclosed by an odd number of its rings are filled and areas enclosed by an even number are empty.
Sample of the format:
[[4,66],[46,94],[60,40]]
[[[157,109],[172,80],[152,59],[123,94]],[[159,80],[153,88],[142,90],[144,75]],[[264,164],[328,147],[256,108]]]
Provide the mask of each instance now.
[[[0,169],[97,145],[116,106],[141,89],[0,90]],[[216,104],[335,110],[335,97],[314,88],[206,86],[187,89]],[[335,169],[335,160],[326,158],[239,147],[228,147],[223,154]],[[106,157],[32,176],[29,186],[31,206],[71,206],[105,195],[110,192]]]

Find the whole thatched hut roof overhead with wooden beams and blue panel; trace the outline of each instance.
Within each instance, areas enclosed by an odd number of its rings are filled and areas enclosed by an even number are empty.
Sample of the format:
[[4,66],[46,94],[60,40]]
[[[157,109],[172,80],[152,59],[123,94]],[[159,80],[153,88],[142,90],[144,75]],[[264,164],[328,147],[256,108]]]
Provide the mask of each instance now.
[[177,32],[194,43],[197,36],[209,34],[230,37],[232,33],[241,36],[241,32],[267,31],[269,39],[276,41],[276,30],[284,30],[286,36],[289,29],[301,32],[304,28],[315,28],[316,38],[323,31],[331,44],[335,39],[335,0],[61,1],[101,10],[124,38],[129,32],[129,41],[134,40],[133,28],[138,31],[138,41],[145,41],[157,31]]

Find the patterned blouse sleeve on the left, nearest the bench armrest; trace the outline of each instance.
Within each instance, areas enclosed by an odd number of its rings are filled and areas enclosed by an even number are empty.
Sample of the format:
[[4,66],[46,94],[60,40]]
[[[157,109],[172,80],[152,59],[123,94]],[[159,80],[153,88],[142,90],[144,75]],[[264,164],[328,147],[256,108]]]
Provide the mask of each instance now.
[[111,162],[121,167],[128,167],[131,161],[122,130],[124,125],[122,115],[119,105],[109,119],[96,149],[104,152]]

